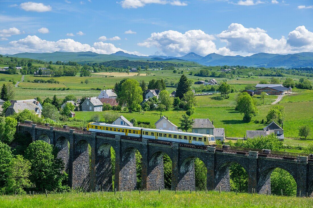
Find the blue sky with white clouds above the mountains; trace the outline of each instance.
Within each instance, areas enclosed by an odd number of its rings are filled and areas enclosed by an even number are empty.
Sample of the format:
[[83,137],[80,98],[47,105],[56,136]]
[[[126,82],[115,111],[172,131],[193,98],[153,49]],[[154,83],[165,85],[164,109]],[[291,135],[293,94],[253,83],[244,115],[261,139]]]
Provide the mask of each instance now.
[[313,52],[312,0],[0,0],[0,53]]

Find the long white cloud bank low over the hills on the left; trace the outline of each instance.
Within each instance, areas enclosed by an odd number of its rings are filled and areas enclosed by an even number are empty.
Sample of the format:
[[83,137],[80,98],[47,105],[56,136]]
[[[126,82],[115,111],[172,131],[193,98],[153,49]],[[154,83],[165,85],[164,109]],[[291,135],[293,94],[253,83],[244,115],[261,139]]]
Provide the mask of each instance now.
[[139,52],[129,52],[119,47],[115,47],[112,43],[95,42],[92,46],[89,44],[82,44],[76,42],[73,39],[61,39],[56,42],[42,40],[37,36],[30,36],[20,39],[18,41],[11,41],[7,46],[0,46],[2,53],[20,53],[20,52],[80,52],[80,51],[92,51],[100,54],[111,54],[117,51],[123,51],[126,53],[132,53],[137,55],[143,55]]

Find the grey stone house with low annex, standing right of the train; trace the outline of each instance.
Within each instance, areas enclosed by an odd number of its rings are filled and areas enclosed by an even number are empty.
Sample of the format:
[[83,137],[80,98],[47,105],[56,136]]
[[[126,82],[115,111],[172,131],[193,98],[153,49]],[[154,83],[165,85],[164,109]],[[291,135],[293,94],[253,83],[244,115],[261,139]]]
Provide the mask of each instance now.
[[263,130],[247,130],[246,137],[254,138],[256,136],[267,136],[274,133],[280,141],[284,141],[284,130],[274,121],[265,126]]

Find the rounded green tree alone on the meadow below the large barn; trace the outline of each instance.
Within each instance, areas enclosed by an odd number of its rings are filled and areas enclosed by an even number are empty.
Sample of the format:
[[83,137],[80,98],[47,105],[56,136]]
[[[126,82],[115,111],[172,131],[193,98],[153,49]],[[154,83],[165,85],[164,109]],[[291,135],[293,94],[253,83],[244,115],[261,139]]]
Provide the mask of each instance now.
[[[248,94],[248,93],[247,93]],[[251,121],[252,116],[256,116],[258,109],[250,95],[244,95],[238,100],[238,111],[244,114],[244,121]]]

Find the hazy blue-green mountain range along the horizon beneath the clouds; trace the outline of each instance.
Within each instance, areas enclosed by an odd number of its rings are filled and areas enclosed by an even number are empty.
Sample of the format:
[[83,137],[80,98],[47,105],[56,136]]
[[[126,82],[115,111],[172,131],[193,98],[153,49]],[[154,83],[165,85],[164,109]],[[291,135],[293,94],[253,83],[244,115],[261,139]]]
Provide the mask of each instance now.
[[251,56],[222,56],[211,53],[207,56],[200,56],[190,52],[182,57],[172,56],[137,56],[134,54],[118,51],[112,54],[98,54],[95,52],[52,52],[52,53],[17,53],[13,57],[32,58],[44,61],[75,61],[79,63],[86,62],[104,62],[111,60],[128,59],[130,61],[190,61],[197,62],[204,66],[247,66],[247,67],[313,67],[313,52],[301,52],[295,54],[271,54],[256,53]]

